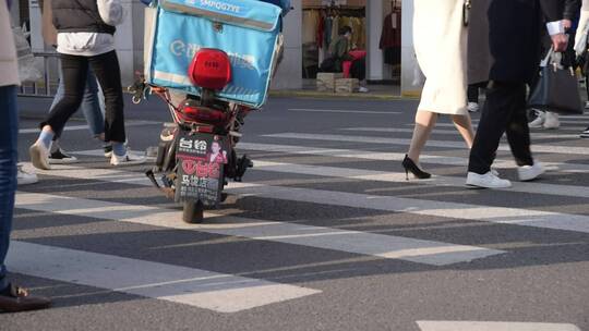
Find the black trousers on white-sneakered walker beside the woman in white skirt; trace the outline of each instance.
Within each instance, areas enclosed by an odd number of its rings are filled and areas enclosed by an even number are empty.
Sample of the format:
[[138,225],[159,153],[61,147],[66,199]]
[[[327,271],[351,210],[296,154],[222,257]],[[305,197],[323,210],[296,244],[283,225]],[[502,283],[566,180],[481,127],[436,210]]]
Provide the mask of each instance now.
[[491,170],[504,133],[517,166],[533,164],[526,108],[525,83],[491,83],[470,150],[468,171],[484,174]]

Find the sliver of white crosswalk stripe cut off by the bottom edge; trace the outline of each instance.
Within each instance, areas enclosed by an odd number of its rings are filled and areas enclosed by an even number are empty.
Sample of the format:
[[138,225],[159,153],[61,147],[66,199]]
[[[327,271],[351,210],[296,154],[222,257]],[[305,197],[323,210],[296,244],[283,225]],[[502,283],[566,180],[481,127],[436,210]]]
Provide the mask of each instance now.
[[580,331],[574,324],[479,321],[418,321],[421,331]]

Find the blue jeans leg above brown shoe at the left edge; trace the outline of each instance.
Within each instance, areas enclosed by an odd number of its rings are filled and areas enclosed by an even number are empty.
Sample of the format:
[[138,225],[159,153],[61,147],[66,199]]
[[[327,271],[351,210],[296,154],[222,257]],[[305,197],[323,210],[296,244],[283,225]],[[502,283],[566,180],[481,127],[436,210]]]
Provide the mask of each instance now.
[[16,191],[17,136],[16,86],[2,86],[0,87],[0,290],[8,285],[4,259],[12,230],[12,210]]

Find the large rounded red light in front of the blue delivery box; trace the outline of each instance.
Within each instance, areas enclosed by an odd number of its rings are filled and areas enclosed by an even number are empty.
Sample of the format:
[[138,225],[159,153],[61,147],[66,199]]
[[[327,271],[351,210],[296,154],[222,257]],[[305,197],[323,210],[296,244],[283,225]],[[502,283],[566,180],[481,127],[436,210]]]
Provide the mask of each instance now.
[[189,68],[189,77],[195,86],[220,90],[231,81],[231,62],[226,52],[203,48],[199,50]]

